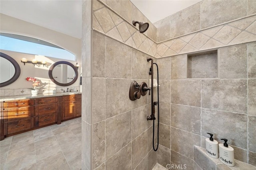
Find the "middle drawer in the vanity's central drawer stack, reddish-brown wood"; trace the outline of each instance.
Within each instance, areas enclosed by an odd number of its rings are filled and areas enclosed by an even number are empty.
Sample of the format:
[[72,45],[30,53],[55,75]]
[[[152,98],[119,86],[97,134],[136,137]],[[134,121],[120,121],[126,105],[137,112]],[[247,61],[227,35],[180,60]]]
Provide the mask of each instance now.
[[36,115],[44,115],[48,113],[58,112],[58,103],[41,104],[34,107]]

